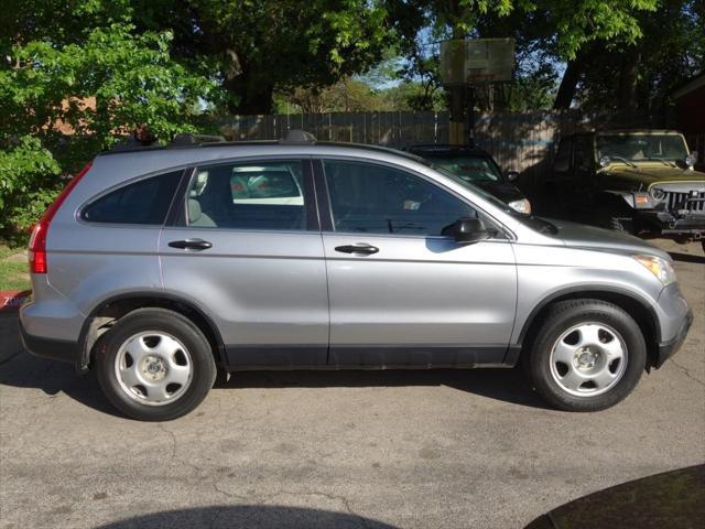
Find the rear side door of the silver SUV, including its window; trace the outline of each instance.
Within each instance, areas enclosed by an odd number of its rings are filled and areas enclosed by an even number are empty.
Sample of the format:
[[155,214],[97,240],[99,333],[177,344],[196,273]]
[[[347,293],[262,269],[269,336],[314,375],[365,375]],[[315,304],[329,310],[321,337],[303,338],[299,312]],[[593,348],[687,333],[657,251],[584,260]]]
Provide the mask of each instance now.
[[311,161],[195,168],[160,240],[164,287],[218,326],[234,367],[325,364],[328,299]]

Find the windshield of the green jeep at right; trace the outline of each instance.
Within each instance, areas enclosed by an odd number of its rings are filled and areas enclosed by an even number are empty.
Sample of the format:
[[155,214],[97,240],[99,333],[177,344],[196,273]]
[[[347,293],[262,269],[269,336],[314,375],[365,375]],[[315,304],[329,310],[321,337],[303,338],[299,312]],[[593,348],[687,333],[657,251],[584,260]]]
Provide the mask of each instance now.
[[684,160],[687,149],[679,134],[608,134],[597,137],[599,158],[630,162]]

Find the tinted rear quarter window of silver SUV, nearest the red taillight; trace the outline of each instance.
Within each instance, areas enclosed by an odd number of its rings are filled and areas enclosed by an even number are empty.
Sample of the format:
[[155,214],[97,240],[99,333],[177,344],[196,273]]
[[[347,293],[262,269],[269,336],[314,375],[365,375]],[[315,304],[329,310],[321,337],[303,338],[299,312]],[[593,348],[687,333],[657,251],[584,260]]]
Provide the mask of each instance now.
[[183,171],[175,171],[120,187],[86,206],[82,218],[91,223],[161,226],[182,174]]

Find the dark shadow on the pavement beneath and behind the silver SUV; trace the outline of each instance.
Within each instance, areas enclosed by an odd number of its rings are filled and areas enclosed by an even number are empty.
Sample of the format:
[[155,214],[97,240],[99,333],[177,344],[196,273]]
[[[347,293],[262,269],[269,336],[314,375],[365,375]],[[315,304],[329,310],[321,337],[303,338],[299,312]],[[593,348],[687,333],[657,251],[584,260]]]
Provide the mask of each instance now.
[[[0,366],[0,385],[37,388],[48,396],[64,392],[84,406],[123,417],[105,398],[95,374],[79,376],[74,366],[35,358],[26,352]],[[241,371],[229,381],[219,377],[215,390],[240,388],[365,388],[404,386],[447,386],[489,399],[531,408],[546,408],[531,391],[521,370],[502,368],[432,369],[432,370],[340,370],[340,371]]]

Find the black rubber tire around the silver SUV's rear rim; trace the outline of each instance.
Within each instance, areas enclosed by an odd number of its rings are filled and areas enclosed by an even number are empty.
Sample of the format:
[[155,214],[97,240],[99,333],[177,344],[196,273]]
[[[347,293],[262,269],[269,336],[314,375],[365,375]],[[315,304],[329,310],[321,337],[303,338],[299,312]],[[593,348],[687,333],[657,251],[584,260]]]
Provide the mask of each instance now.
[[[140,401],[139,392],[135,391],[132,393],[138,396],[131,396],[130,390],[118,378],[116,359],[120,348],[140,333],[163,333],[164,336],[173,337],[186,350],[176,354],[186,355],[182,358],[187,358],[183,363],[188,369],[189,379],[183,385],[183,389],[176,385],[181,395],[175,395],[173,401],[152,406],[144,403],[147,399]],[[159,358],[151,353],[150,355],[150,358]],[[139,309],[120,319],[100,336],[96,349],[96,367],[98,381],[108,400],[126,415],[140,421],[169,421],[185,415],[205,399],[216,378],[213,350],[200,330],[187,317],[165,309]],[[144,396],[147,393],[145,390]]]

